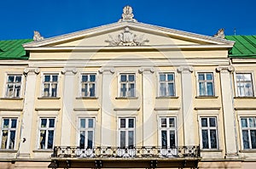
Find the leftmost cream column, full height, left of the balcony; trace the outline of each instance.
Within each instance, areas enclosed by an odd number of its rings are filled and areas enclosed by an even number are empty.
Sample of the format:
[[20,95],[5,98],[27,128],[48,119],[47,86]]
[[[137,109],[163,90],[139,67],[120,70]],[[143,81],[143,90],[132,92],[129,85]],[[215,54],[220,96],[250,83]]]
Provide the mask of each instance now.
[[21,133],[20,133],[20,149],[19,158],[29,158],[31,152],[32,141],[32,116],[34,114],[34,104],[36,99],[36,82],[39,73],[38,68],[26,68],[24,75],[26,76],[24,108],[21,116]]

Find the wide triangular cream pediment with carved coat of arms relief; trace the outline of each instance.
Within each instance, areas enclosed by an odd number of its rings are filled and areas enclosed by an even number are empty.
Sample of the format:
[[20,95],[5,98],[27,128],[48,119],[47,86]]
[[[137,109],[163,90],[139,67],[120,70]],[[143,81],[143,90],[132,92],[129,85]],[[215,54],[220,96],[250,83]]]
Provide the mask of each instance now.
[[24,45],[25,49],[44,48],[134,48],[134,47],[232,47],[234,42],[148,25],[140,22],[117,22],[66,35],[46,38]]

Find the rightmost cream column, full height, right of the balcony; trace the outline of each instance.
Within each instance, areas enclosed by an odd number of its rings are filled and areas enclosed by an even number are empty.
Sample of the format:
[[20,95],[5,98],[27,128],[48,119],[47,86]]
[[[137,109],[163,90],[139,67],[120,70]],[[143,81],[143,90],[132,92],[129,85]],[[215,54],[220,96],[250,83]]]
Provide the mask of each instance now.
[[224,114],[224,138],[226,157],[234,157],[237,155],[236,143],[236,123],[233,107],[233,93],[231,87],[230,72],[234,68],[232,66],[218,66],[217,71],[220,74],[221,98]]

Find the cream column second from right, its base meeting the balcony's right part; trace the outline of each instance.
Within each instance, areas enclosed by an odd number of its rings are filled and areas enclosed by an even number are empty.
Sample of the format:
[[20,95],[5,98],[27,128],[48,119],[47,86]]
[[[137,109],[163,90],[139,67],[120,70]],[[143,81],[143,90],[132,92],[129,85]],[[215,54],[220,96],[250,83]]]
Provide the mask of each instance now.
[[193,115],[193,83],[191,73],[193,67],[180,66],[177,71],[181,73],[182,85],[182,112],[183,112],[183,139],[185,146],[195,144],[195,121]]

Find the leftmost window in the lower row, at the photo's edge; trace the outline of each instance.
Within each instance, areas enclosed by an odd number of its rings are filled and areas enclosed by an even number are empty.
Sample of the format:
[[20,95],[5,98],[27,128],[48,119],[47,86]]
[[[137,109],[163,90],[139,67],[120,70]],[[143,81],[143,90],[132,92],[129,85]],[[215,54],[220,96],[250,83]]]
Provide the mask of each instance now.
[[17,119],[3,118],[1,128],[1,149],[15,149]]

